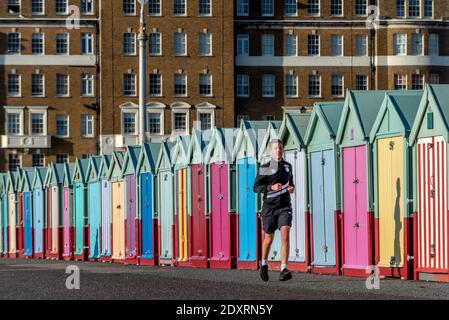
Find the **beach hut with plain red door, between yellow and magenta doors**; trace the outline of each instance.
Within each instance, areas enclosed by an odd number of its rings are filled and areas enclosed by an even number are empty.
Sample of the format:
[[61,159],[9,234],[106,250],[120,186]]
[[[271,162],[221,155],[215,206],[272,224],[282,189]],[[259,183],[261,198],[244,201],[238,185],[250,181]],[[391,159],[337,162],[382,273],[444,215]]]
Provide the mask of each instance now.
[[192,267],[209,267],[209,215],[206,212],[206,168],[204,156],[211,139],[211,130],[194,129],[191,143],[187,151],[187,162],[190,166],[190,235],[189,260]]

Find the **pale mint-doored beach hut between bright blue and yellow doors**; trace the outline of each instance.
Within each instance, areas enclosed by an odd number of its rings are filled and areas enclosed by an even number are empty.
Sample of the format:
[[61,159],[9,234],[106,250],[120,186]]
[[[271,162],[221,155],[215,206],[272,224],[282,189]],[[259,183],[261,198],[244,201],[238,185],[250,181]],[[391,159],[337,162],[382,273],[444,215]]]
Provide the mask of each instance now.
[[157,210],[159,228],[159,264],[174,265],[175,227],[174,227],[174,185],[172,169],[173,142],[162,142],[156,162]]

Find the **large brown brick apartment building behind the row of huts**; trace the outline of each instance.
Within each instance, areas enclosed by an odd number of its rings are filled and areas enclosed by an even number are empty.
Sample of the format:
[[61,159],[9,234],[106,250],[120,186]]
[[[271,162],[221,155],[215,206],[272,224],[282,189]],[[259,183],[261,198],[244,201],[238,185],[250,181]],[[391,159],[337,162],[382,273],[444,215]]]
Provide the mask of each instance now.
[[[0,170],[138,142],[139,9],[0,2]],[[146,22],[148,141],[449,83],[446,0],[150,0]]]

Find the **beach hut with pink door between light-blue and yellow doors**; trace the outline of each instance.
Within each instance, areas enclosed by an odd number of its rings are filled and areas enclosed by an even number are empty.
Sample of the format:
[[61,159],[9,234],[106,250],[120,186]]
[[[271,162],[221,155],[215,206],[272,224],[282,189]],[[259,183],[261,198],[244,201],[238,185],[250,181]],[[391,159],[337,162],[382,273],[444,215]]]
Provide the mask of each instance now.
[[369,140],[385,91],[348,91],[338,125],[342,273],[366,276],[374,263],[373,153]]

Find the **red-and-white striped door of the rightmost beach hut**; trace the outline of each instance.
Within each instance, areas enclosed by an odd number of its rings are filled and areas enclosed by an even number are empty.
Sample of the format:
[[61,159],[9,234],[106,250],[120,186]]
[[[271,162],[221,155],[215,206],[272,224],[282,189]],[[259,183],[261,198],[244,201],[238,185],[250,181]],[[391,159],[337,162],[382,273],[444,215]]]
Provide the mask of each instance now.
[[447,150],[441,136],[418,140],[418,270],[446,272]]

